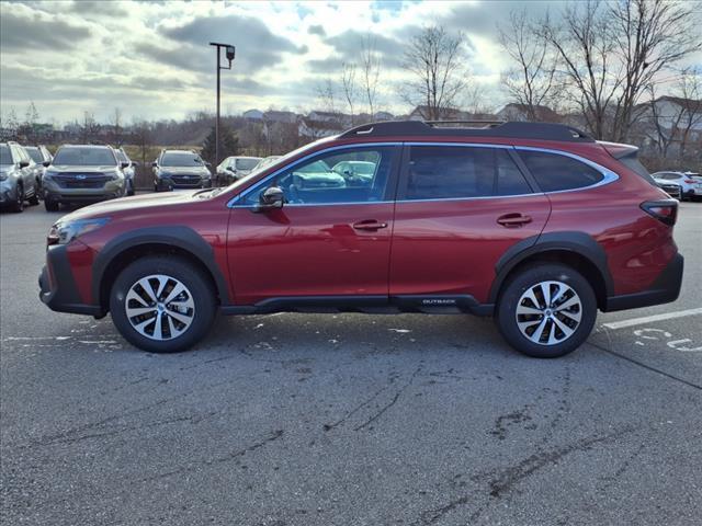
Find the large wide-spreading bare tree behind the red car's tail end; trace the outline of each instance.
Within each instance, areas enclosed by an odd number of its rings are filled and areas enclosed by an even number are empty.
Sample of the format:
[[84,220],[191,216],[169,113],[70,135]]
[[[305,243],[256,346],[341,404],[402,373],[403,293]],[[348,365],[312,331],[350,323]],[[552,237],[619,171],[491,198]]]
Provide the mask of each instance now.
[[626,140],[635,107],[660,73],[702,48],[693,2],[569,3],[539,34],[563,61],[566,91],[598,138]]

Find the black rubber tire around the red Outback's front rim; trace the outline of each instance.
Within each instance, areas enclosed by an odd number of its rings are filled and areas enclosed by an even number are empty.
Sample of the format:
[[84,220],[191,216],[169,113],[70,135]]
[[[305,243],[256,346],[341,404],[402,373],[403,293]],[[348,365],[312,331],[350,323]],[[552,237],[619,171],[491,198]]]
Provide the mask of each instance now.
[[[139,279],[156,274],[182,283],[194,305],[190,327],[182,334],[167,340],[154,340],[139,333],[132,325],[125,309],[131,288]],[[177,353],[192,347],[207,334],[216,315],[215,298],[211,281],[195,265],[180,258],[154,255],[135,261],[120,273],[110,291],[110,311],[112,321],[120,333],[134,346],[151,353]],[[145,319],[138,319],[138,321]],[[152,335],[154,330],[151,330]],[[167,330],[165,328],[163,333]]]

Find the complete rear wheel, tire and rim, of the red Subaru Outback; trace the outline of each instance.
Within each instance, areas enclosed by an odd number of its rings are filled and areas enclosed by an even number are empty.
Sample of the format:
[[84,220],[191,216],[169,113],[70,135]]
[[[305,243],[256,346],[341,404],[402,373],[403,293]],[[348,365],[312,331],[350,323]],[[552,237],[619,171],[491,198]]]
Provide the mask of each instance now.
[[506,284],[497,306],[497,324],[517,351],[555,358],[575,351],[590,335],[597,318],[592,287],[569,266],[541,263],[520,271]]

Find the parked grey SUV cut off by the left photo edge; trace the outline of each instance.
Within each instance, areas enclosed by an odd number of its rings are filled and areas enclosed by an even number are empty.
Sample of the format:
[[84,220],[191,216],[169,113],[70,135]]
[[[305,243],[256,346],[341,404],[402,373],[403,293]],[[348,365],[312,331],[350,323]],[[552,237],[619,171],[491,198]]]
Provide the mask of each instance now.
[[0,142],[0,206],[24,210],[24,202],[38,205],[34,161],[16,142]]

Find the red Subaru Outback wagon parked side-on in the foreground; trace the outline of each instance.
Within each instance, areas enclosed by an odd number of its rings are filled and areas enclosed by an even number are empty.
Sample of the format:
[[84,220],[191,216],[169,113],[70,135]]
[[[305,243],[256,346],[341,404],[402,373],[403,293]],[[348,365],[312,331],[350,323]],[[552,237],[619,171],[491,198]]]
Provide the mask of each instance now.
[[224,190],[89,206],[48,235],[49,308],[185,350],[217,311],[472,312],[539,357],[597,310],[672,301],[677,202],[636,148],[563,125],[390,122],[295,150]]

